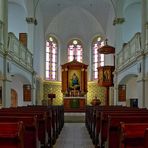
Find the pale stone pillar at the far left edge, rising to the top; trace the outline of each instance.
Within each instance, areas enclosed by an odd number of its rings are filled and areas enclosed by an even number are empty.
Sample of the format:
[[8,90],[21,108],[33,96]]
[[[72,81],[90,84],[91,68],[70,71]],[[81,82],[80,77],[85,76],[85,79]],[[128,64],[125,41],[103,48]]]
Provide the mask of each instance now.
[[3,23],[3,31],[2,31],[2,43],[4,54],[4,62],[3,62],[3,98],[2,98],[2,106],[10,107],[11,106],[11,76],[10,76],[10,68],[11,63],[10,59],[7,56],[7,43],[8,43],[8,0],[0,1],[0,20]]

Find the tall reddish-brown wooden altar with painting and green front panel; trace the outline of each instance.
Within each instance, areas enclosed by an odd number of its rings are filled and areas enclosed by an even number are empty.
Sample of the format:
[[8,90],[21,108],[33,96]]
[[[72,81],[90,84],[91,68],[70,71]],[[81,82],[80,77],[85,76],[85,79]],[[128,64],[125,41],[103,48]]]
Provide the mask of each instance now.
[[62,65],[62,93],[65,112],[85,112],[87,66],[75,58]]

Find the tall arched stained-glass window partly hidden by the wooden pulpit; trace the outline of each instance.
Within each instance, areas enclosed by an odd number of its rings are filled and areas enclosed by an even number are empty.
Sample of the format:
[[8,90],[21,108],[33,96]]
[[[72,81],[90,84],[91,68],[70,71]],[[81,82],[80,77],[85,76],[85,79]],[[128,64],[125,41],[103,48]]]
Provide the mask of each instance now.
[[101,36],[97,36],[92,42],[92,65],[93,65],[93,79],[98,78],[98,66],[104,66],[104,54],[99,54],[98,49],[104,45]]

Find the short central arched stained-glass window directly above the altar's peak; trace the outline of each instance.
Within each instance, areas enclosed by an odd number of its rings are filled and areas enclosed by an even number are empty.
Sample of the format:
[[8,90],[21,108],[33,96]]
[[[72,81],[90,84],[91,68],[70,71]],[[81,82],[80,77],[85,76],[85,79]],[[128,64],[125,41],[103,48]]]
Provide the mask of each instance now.
[[73,39],[68,43],[68,62],[72,61],[74,58],[82,62],[82,43],[77,39]]

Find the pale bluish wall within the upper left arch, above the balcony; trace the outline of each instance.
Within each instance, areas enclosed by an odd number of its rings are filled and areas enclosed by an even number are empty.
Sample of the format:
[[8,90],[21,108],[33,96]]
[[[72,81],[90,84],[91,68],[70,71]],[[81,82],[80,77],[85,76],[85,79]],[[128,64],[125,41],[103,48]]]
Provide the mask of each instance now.
[[25,9],[19,4],[8,3],[8,32],[13,32],[16,37],[20,32],[28,32]]

